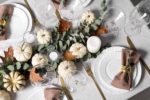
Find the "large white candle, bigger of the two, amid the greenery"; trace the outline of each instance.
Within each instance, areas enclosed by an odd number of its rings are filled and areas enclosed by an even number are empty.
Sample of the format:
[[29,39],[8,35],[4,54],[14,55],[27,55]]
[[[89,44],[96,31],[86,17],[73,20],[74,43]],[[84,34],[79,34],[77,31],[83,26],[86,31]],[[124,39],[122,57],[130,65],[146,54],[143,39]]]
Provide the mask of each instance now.
[[91,36],[87,40],[87,49],[91,53],[96,53],[101,47],[101,40],[97,36]]

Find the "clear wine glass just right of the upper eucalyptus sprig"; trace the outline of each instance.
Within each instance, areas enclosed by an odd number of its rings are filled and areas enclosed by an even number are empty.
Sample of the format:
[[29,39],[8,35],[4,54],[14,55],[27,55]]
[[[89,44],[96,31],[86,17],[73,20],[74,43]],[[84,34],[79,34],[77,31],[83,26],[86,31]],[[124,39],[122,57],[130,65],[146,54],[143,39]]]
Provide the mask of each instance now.
[[103,16],[102,26],[106,28],[106,34],[103,36],[117,36],[124,28],[126,16],[124,11],[117,7],[110,7]]

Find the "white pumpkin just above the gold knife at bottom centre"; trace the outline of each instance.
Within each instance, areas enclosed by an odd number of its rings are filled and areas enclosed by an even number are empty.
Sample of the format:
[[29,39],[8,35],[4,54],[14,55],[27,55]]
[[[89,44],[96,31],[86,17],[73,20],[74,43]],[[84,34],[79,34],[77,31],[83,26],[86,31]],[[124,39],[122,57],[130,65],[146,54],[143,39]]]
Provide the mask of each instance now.
[[63,61],[58,66],[58,74],[63,78],[72,76],[76,72],[77,72],[77,67],[72,61]]

